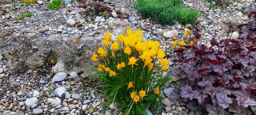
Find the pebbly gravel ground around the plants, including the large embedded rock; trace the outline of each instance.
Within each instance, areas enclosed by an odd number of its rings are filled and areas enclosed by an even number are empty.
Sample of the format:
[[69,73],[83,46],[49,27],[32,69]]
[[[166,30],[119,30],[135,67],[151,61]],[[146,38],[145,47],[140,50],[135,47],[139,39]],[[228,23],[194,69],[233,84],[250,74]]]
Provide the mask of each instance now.
[[[67,4],[56,11],[48,9],[46,0],[0,4],[0,114],[123,114],[114,104],[107,107],[107,98],[91,77],[91,54],[103,35],[110,32],[117,36],[127,28],[142,29],[145,38],[158,40],[165,48],[167,42],[183,39],[185,28],[193,28],[191,24],[160,25],[150,18],[142,19],[132,7],[133,0],[104,2],[113,10],[128,13],[128,19],[112,15],[88,20],[79,13],[83,9],[77,7],[77,2],[64,2]],[[219,40],[227,36],[229,22],[247,22],[248,11],[256,5],[254,0],[242,0],[227,8],[213,8],[203,0],[187,0],[184,4],[200,11],[198,20],[202,20],[206,45],[215,34]],[[24,12],[33,12],[33,16],[15,19]],[[239,28],[232,38],[238,36]],[[165,88],[167,97],[159,114],[200,114],[186,100],[171,101],[171,91],[173,88]]]

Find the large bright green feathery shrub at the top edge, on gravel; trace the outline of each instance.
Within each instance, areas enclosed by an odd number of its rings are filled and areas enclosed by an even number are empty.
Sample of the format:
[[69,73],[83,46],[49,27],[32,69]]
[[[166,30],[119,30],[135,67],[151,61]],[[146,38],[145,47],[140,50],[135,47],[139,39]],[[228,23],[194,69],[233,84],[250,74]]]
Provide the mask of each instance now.
[[134,4],[143,17],[153,18],[157,23],[168,24],[179,21],[182,24],[195,24],[198,11],[184,7],[181,0],[138,0]]

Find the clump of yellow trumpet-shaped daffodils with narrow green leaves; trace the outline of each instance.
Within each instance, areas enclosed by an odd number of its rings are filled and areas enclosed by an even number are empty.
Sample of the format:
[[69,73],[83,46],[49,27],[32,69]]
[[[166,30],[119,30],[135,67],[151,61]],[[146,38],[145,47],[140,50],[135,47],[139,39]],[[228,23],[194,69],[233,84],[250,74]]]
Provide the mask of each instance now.
[[171,82],[169,60],[158,41],[143,41],[142,30],[127,29],[117,40],[107,33],[92,61],[98,62],[106,95],[126,114],[144,114],[146,108],[158,111],[160,91]]

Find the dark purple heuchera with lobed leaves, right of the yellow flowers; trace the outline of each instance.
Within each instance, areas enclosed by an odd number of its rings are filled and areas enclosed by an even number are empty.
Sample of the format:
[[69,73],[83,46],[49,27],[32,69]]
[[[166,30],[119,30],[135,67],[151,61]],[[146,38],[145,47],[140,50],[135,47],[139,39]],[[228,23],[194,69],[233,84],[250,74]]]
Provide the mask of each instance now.
[[[256,17],[251,11],[249,17]],[[189,36],[190,45],[174,48],[170,60],[178,62],[173,76],[185,77],[180,96],[197,100],[208,114],[255,114],[256,106],[256,22],[241,24],[238,39],[211,40],[199,44],[200,29]],[[233,33],[229,26],[228,34]]]

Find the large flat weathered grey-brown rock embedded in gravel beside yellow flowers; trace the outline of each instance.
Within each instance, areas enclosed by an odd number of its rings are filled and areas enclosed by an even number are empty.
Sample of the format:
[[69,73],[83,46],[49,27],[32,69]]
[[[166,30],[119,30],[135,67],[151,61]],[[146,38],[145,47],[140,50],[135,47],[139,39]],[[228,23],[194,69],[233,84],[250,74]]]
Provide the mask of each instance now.
[[[36,33],[13,34],[0,33],[0,53],[9,67],[8,72],[19,74],[28,70],[35,70],[56,60],[55,73],[71,71],[91,74],[88,67],[91,55],[101,46],[101,40],[106,33],[111,33],[114,40],[126,28],[133,28],[128,22],[115,19],[107,22],[107,29],[87,30],[88,33],[79,34],[51,34],[41,38]],[[57,66],[58,65],[58,66]],[[57,72],[56,72],[57,71]]]

